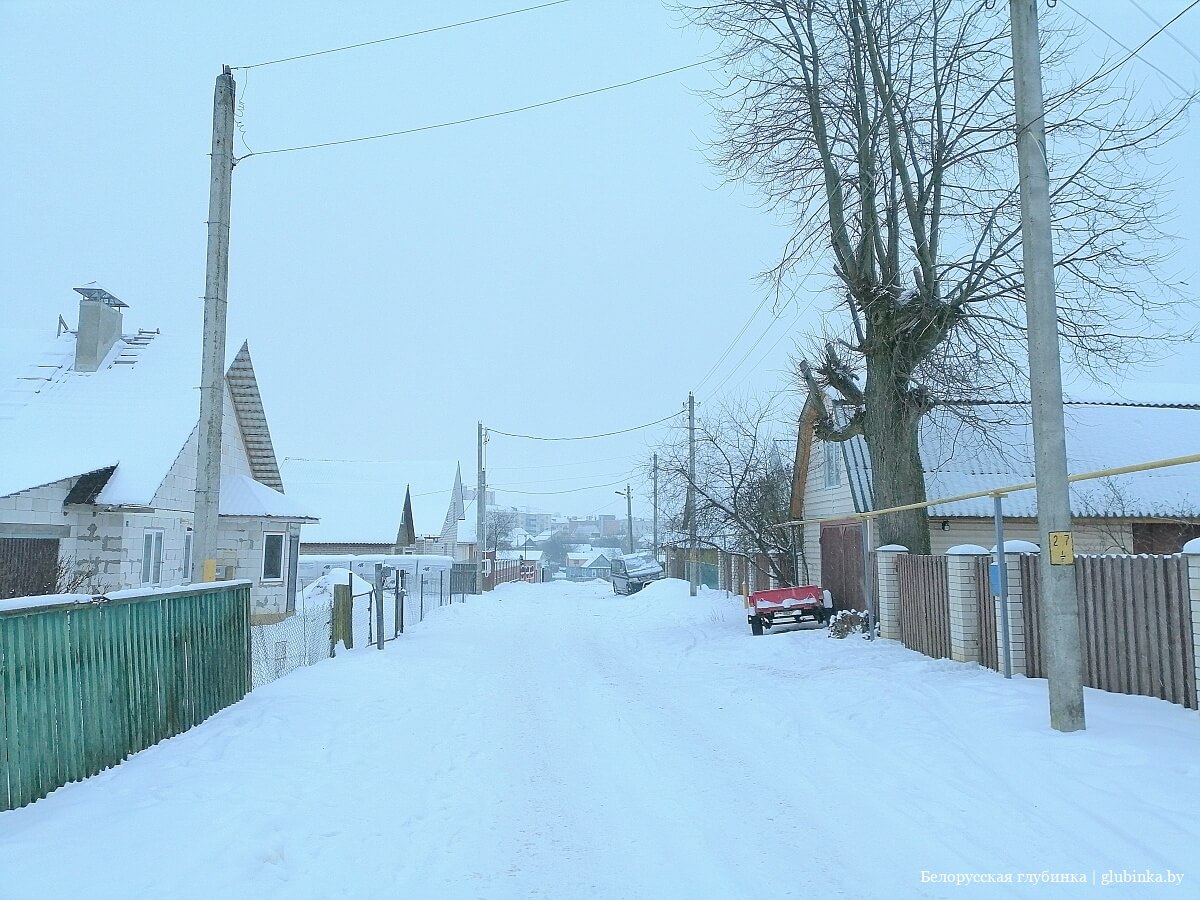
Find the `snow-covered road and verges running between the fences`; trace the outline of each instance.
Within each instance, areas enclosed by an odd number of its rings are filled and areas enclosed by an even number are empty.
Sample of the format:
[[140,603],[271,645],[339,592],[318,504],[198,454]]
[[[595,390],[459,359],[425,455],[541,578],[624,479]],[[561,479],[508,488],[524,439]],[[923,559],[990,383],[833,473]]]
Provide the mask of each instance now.
[[1087,702],[1058,734],[1044,682],[682,582],[506,584],[0,814],[0,896],[1196,896],[1200,716]]

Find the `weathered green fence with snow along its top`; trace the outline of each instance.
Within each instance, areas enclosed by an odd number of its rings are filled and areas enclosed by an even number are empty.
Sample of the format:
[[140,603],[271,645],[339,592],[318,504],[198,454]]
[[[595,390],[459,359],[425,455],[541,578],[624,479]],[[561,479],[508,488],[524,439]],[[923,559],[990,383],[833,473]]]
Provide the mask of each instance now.
[[248,583],[0,612],[0,810],[115,766],[248,690]]

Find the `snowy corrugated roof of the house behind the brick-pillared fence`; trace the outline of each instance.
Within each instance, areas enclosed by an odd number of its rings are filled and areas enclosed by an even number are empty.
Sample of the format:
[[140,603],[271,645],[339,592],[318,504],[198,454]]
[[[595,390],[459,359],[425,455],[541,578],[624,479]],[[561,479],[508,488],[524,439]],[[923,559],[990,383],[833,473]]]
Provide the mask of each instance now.
[[[986,427],[938,409],[920,428],[925,491],[954,497],[1033,480],[1033,432],[1027,404],[979,406]],[[835,415],[838,413],[835,412]],[[1067,468],[1070,474],[1134,466],[1200,452],[1200,404],[1068,403]],[[872,509],[871,463],[862,437],[842,444],[856,510]],[[1070,487],[1072,514],[1080,517],[1165,517],[1200,515],[1200,467],[1180,466]],[[1004,499],[1013,517],[1037,516],[1033,491]],[[989,517],[982,497],[929,508],[935,517]]]

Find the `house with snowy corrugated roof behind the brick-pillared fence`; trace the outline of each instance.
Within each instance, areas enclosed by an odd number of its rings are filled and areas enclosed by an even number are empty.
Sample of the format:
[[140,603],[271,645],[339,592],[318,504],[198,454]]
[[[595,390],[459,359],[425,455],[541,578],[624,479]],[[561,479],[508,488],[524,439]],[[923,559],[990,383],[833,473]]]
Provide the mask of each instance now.
[[[829,406],[835,420],[845,410]],[[920,456],[930,499],[955,497],[1033,480],[1033,434],[1025,404],[977,406],[967,425],[954,410],[935,410],[922,425]],[[804,527],[810,578],[847,596],[860,594],[862,542],[854,520],[841,516],[875,508],[872,473],[862,437],[822,442],[815,434],[812,398],[800,414],[791,514],[830,518]],[[1099,472],[1200,449],[1200,403],[1068,403],[1068,469]],[[1070,488],[1076,552],[1174,553],[1200,536],[1200,472],[1195,466],[1076,482]],[[977,544],[995,545],[992,499],[929,508],[934,553]],[[872,535],[877,542],[877,530]],[[1021,491],[1004,498],[1007,540],[1038,542],[1037,498]],[[828,559],[834,562],[826,564]]]

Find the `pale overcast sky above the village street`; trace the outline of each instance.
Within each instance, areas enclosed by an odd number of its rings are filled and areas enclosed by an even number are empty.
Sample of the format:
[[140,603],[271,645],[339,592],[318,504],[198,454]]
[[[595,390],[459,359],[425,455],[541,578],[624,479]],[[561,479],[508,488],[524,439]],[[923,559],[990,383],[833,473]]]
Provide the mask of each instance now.
[[[0,271],[11,334],[53,336],[59,313],[73,325],[71,288],[94,281],[130,304],[130,326],[199,306],[222,64],[532,2],[0,0]],[[1186,6],[1139,2],[1159,20]],[[1154,30],[1132,0],[1072,5],[1130,46]],[[1063,0],[1056,14],[1073,13]],[[652,0],[572,0],[239,70],[239,154],[493,113],[706,58],[710,36],[676,25]],[[1118,52],[1084,28],[1084,54]],[[1172,34],[1200,48],[1200,11]],[[1144,53],[1196,84],[1200,62],[1178,44],[1163,37]],[[1127,70],[1150,96],[1177,92],[1139,61]],[[277,454],[460,461],[473,481],[480,419],[503,431],[587,434],[660,419],[690,389],[710,401],[785,388],[793,342],[828,306],[827,281],[810,280],[812,293],[778,319],[762,306],[733,342],[763,300],[755,275],[786,232],[707,163],[713,118],[698,92],[712,84],[692,68],[506,118],[241,162],[229,340],[250,340]],[[1180,259],[1192,260],[1200,140],[1189,131],[1171,156],[1181,162],[1174,230]],[[1176,353],[1139,378],[1195,382],[1198,365],[1193,350]],[[497,437],[491,481],[523,491],[605,485],[500,500],[619,512],[624,500],[607,482],[623,485],[655,437],[660,430],[565,444]],[[389,473],[373,462],[361,474]],[[634,490],[635,512],[648,514],[643,486]]]

